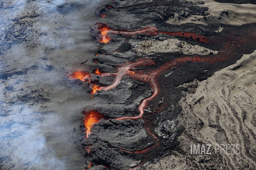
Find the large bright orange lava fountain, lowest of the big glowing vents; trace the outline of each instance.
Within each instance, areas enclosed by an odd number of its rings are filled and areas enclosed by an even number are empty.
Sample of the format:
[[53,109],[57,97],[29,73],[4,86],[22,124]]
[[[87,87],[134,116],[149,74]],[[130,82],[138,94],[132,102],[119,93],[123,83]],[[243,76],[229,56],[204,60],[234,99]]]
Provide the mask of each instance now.
[[85,127],[86,127],[86,138],[91,134],[91,128],[94,123],[97,123],[102,119],[103,116],[97,111],[89,111],[85,114]]

